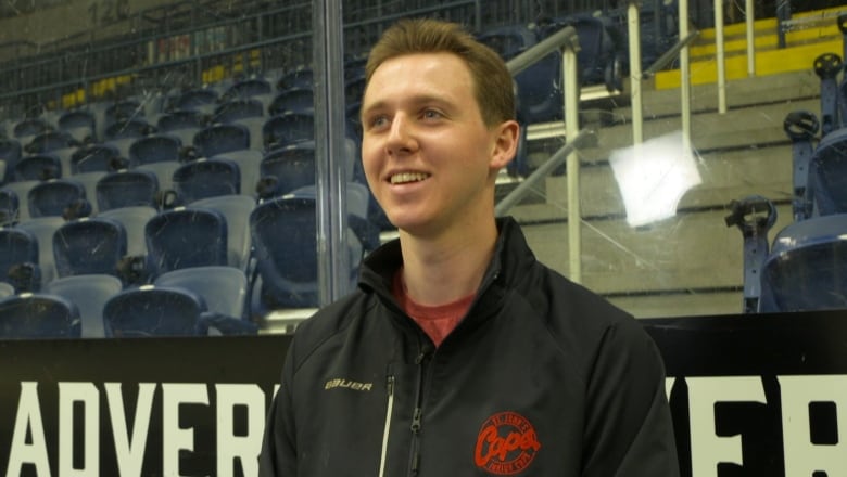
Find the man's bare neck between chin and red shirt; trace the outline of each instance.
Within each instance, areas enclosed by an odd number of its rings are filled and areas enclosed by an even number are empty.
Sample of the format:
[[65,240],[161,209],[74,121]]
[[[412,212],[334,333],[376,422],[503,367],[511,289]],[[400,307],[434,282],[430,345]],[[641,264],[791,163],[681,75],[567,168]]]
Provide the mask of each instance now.
[[437,237],[401,231],[403,280],[421,305],[444,305],[476,293],[497,241],[494,219],[468,223]]

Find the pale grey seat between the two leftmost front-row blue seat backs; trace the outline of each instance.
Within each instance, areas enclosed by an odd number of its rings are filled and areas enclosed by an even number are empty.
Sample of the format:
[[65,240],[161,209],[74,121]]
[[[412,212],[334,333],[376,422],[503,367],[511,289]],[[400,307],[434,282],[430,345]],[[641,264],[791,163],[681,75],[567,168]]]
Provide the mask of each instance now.
[[76,305],[79,310],[80,337],[103,338],[103,307],[121,293],[123,283],[114,275],[74,275],[48,283],[45,293],[58,295]]

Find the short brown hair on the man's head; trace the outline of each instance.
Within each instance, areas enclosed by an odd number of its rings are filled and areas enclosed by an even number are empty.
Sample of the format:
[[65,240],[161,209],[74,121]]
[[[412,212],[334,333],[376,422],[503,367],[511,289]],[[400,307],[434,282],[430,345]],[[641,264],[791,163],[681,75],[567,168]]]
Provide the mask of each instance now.
[[470,69],[485,125],[492,127],[515,119],[515,90],[506,63],[455,23],[405,18],[389,27],[368,55],[367,83],[385,61],[416,53],[453,53],[460,57]]

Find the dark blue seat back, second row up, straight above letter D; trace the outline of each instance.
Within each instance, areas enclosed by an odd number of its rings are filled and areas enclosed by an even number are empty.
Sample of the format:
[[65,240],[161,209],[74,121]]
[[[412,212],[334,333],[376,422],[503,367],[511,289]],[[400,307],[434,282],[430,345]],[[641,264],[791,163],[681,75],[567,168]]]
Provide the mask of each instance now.
[[117,275],[117,262],[126,256],[124,225],[116,220],[91,218],[67,222],[53,234],[56,274]]

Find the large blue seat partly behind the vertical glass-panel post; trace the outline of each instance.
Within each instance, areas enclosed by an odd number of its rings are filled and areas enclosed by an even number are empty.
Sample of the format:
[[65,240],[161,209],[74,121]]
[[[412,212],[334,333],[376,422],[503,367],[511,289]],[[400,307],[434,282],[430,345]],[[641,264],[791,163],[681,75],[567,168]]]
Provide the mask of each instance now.
[[[258,274],[261,309],[318,306],[315,201],[275,198],[260,204],[250,215]],[[353,234],[351,234],[353,235]],[[350,247],[351,286],[362,257],[361,247]]]

